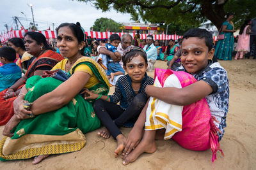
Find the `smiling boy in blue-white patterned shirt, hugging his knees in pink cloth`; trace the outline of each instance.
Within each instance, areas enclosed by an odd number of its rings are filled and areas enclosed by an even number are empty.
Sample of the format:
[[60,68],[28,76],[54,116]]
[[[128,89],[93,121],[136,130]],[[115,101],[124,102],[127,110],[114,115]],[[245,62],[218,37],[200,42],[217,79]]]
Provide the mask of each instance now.
[[228,112],[227,71],[212,62],[212,35],[205,29],[187,31],[181,50],[182,66],[156,69],[154,85],[146,87],[150,100],[125,141],[124,165],[155,152],[155,137],[172,138],[189,150],[211,148],[216,159]]

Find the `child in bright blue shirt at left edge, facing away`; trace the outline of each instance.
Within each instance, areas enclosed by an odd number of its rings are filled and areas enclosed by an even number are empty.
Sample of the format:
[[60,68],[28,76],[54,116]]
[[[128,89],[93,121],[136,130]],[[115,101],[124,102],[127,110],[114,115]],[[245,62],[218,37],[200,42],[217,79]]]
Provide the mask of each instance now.
[[15,64],[15,59],[16,51],[14,48],[9,46],[0,48],[0,62],[4,64],[0,67],[0,92],[11,87],[21,77],[21,70]]

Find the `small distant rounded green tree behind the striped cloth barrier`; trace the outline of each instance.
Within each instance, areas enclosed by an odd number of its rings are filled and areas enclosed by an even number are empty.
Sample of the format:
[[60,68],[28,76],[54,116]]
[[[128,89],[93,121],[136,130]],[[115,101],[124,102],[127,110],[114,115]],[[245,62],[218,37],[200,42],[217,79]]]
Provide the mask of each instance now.
[[115,20],[111,20],[110,18],[98,18],[93,24],[93,31],[104,32],[108,29],[108,31],[111,32],[120,32],[122,31],[120,27],[122,27],[122,24],[115,22]]

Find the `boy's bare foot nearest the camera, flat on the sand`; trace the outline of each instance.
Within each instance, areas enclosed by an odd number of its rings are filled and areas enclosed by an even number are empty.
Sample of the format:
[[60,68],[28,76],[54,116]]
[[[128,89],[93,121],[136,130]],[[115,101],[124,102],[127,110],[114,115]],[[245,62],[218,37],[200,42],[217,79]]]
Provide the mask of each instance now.
[[134,148],[131,153],[124,156],[123,165],[126,166],[130,162],[134,162],[144,152],[154,153],[156,152],[156,149],[155,141],[149,142],[145,139],[142,139],[139,145],[136,146],[136,148]]

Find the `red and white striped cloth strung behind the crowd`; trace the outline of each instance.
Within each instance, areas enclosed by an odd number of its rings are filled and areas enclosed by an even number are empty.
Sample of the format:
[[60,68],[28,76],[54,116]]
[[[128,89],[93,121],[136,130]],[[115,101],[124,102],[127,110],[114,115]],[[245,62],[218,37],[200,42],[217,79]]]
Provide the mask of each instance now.
[[[10,38],[24,38],[24,35],[28,32],[27,29],[21,29],[21,30],[14,30],[10,31],[5,34],[0,35],[1,42],[4,43]],[[45,38],[57,38],[56,36],[56,31],[51,31],[51,30],[46,30],[46,31],[38,31],[42,34],[44,34]],[[86,36],[91,36],[91,38],[97,38],[97,39],[107,39],[111,34],[118,34],[120,37],[125,34],[125,32],[97,32],[97,31],[86,31],[85,34]],[[130,33],[132,38],[134,38],[135,33]],[[146,39],[149,34],[140,34],[141,39]],[[182,38],[182,36],[173,34],[173,35],[167,35],[167,34],[153,34],[152,35],[154,39],[159,39],[159,40],[177,40],[179,38]],[[217,36],[212,36],[213,40],[217,40]]]

